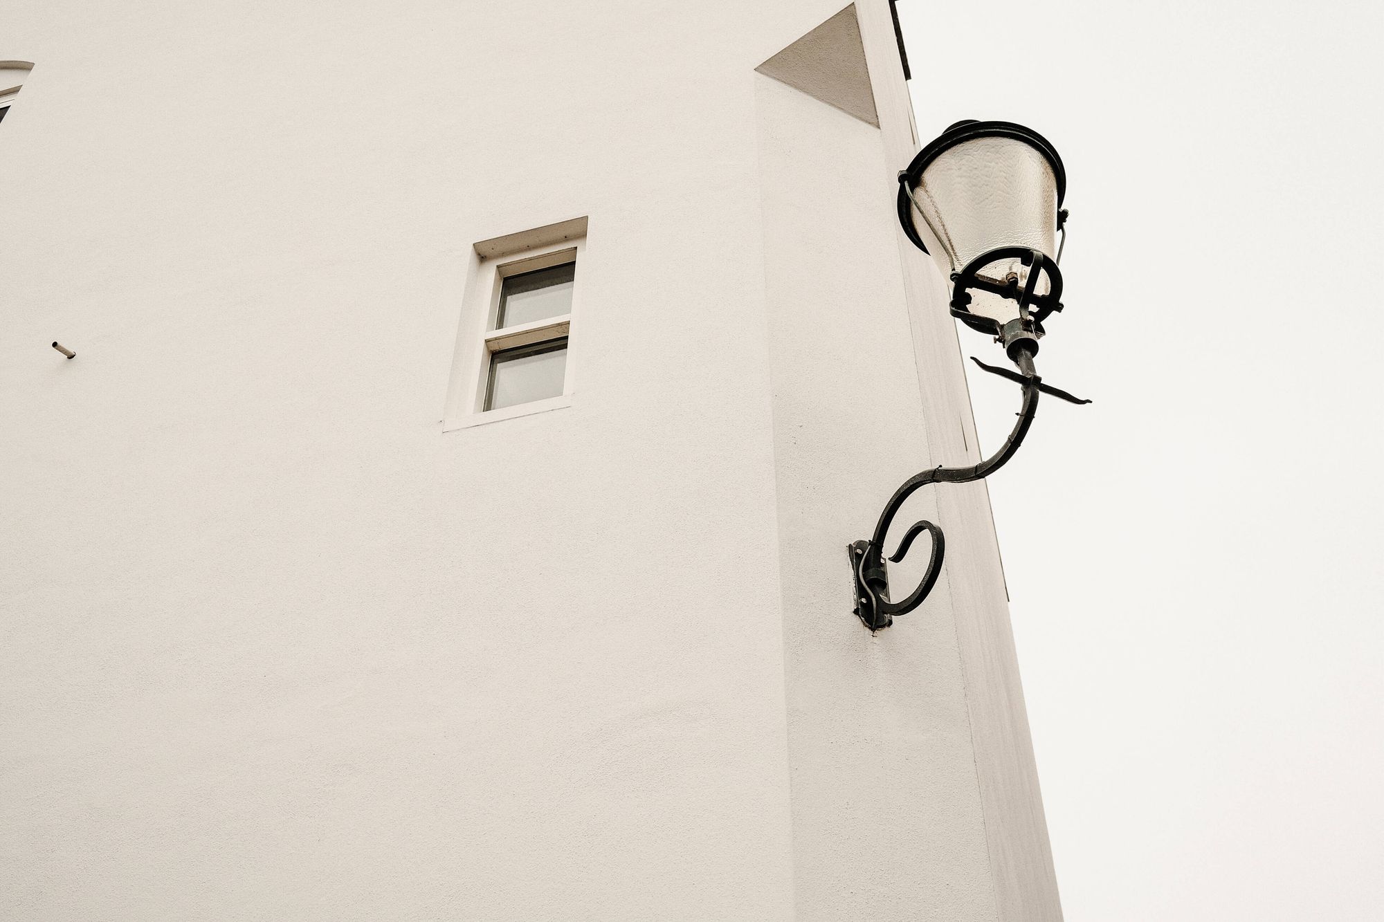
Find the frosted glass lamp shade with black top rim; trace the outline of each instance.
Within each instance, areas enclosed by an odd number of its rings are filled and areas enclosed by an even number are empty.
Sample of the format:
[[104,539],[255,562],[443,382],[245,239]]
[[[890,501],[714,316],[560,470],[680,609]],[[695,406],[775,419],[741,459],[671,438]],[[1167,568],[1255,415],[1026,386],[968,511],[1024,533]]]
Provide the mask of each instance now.
[[[1012,122],[958,122],[927,144],[900,177],[904,231],[949,278],[977,257],[1005,246],[1056,256],[1057,210],[1067,176],[1062,158],[1037,132]],[[977,267],[1003,282],[1027,282],[1010,256]],[[1038,282],[1045,293],[1048,280]],[[1019,305],[978,292],[970,310],[1003,323]]]

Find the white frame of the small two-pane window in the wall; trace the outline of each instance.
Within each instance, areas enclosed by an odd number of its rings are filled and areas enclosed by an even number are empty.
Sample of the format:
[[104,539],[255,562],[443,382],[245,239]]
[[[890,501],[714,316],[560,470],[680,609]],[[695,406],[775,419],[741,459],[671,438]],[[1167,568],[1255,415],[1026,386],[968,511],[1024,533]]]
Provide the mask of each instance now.
[[[471,310],[465,311],[468,317],[462,318],[458,336],[458,361],[455,363],[457,367],[454,367],[451,396],[447,401],[447,413],[443,421],[444,432],[572,406],[576,370],[576,349],[573,346],[572,331],[576,325],[581,302],[581,263],[584,253],[585,237],[577,237],[544,246],[531,246],[494,259],[477,257],[477,264],[472,273],[473,281],[468,287],[465,299]],[[576,263],[576,277],[572,285],[572,309],[569,313],[527,324],[495,328],[505,278],[565,263]],[[490,389],[491,361],[497,352],[562,338],[567,341],[567,356],[562,378],[562,393],[559,396],[533,400],[530,403],[516,403],[498,410],[484,408]]]

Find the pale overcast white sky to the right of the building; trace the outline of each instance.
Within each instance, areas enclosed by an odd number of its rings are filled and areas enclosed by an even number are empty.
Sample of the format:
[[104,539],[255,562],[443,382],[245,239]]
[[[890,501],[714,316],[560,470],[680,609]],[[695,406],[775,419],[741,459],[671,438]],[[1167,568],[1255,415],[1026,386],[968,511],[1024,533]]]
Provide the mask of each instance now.
[[1068,922],[1384,919],[1384,4],[900,17],[925,141],[1067,165],[1038,367],[1096,403],[990,490]]

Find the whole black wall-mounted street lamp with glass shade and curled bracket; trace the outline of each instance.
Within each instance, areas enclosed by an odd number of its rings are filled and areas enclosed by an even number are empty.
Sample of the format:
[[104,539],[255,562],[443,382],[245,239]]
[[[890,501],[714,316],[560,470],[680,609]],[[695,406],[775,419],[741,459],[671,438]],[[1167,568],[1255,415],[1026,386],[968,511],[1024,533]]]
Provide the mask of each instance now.
[[[907,598],[893,601],[884,566],[884,536],[904,501],[929,483],[966,483],[998,471],[1028,433],[1038,395],[1091,403],[1045,385],[1034,371],[1042,321],[1062,310],[1062,273],[1056,245],[1066,242],[1062,208],[1067,173],[1057,151],[1037,132],[1012,122],[958,122],[927,144],[898,174],[898,220],[919,249],[952,282],[951,313],[1005,347],[1017,371],[973,361],[1023,386],[1023,407],[1013,432],[990,458],[967,468],[937,467],[904,482],[884,507],[868,541],[848,547],[855,576],[855,613],[872,631],[922,604],[937,583],[945,558],[943,530],[918,522],[889,558],[904,559],[927,532],[931,558]],[[1055,246],[1056,245],[1056,246]]]

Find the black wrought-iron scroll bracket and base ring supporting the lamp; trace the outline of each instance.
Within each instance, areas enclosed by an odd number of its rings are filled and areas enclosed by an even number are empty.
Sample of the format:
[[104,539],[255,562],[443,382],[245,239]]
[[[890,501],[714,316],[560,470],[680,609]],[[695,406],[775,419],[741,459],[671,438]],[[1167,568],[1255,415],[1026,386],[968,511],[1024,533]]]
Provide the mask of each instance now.
[[[907,598],[898,602],[890,598],[889,570],[884,568],[884,537],[889,534],[889,527],[890,525],[894,523],[894,516],[898,515],[898,511],[904,507],[904,503],[908,500],[908,497],[911,497],[919,487],[927,486],[929,483],[969,483],[972,480],[980,480],[983,478],[987,478],[999,468],[1002,468],[1005,462],[1008,462],[1009,458],[1014,455],[1014,453],[1019,450],[1019,446],[1023,444],[1024,436],[1028,435],[1028,426],[1032,425],[1034,414],[1037,414],[1038,411],[1038,395],[1046,393],[1052,395],[1053,397],[1059,397],[1062,400],[1078,404],[1091,403],[1089,400],[1074,397],[1066,390],[1059,390],[1057,388],[1045,385],[1042,382],[1042,378],[1039,378],[1038,374],[1034,371],[1034,353],[1038,352],[1038,341],[1034,332],[1035,318],[1027,316],[1027,306],[1037,300],[1035,288],[1038,275],[1045,270],[1050,270],[1052,274],[1049,275],[1050,280],[1049,295],[1042,298],[1042,302],[1045,303],[1039,305],[1039,310],[1042,310],[1044,307],[1046,307],[1048,310],[1042,313],[1050,313],[1050,310],[1053,309],[1060,310],[1060,303],[1057,302],[1056,298],[1062,291],[1062,275],[1056,274],[1056,266],[1053,266],[1050,260],[1046,260],[1046,257],[1044,257],[1041,253],[1037,253],[1035,251],[1024,251],[1024,252],[1032,253],[1032,259],[1038,263],[1037,266],[1032,266],[1028,274],[1028,284],[1024,287],[1024,291],[1020,293],[1019,291],[1014,291],[1017,285],[1008,285],[1006,287],[1009,289],[1008,292],[996,292],[996,293],[1006,293],[1006,296],[1013,298],[1013,300],[1017,300],[1023,307],[1020,311],[1021,314],[1024,314],[1021,321],[1012,321],[1010,324],[1005,324],[1005,328],[1002,331],[999,329],[999,324],[995,324],[996,327],[995,332],[1002,334],[1002,341],[1005,342],[1006,352],[1017,365],[1019,371],[1010,371],[1008,368],[996,368],[995,365],[987,365],[978,359],[972,359],[972,361],[974,361],[985,371],[1014,381],[1023,386],[1024,396],[1023,396],[1023,406],[1019,410],[1019,421],[1014,424],[1014,428],[1009,433],[1009,437],[1005,439],[1005,444],[999,447],[999,451],[985,458],[980,464],[967,468],[937,467],[933,468],[931,471],[923,471],[922,473],[918,473],[905,480],[904,485],[894,491],[894,496],[890,497],[889,503],[884,505],[884,511],[879,516],[879,523],[875,526],[873,537],[868,541],[854,541],[847,547],[847,552],[850,554],[851,559],[851,572],[855,576],[855,615],[861,619],[861,622],[865,623],[865,627],[871,629],[871,631],[877,631],[883,627],[889,627],[890,624],[894,623],[895,615],[907,615],[908,612],[918,608],[922,604],[922,601],[927,598],[927,594],[933,591],[933,586],[937,583],[937,577],[941,575],[943,561],[945,559],[947,555],[947,540],[945,536],[943,534],[941,527],[927,521],[915,522],[913,526],[904,533],[904,537],[898,543],[898,550],[894,551],[894,554],[890,555],[889,559],[893,563],[898,563],[900,561],[902,561],[904,557],[908,554],[909,548],[912,548],[913,541],[923,532],[927,532],[933,545],[931,557],[927,561],[927,572],[923,575],[923,579],[918,583],[913,591],[908,594]],[[967,266],[962,273],[958,273],[958,275],[954,277],[956,280],[956,295],[958,295],[952,300],[954,307],[958,306],[956,300],[960,300],[959,296],[965,295],[965,288],[983,287],[984,282],[981,285],[976,284],[974,269],[978,264],[984,264],[981,263],[983,259],[994,262],[996,253],[999,253],[999,251],[992,251],[991,253],[981,256],[980,259],[974,260],[970,266]],[[1021,253],[1019,252],[1005,253],[1005,256],[1009,255],[1021,256]],[[1024,264],[1031,266],[1032,263],[1030,260],[1024,260]],[[969,300],[970,300],[969,296],[966,296],[965,300],[962,300],[960,306],[963,307],[965,303]],[[1038,335],[1041,335],[1041,329],[1038,331]]]

